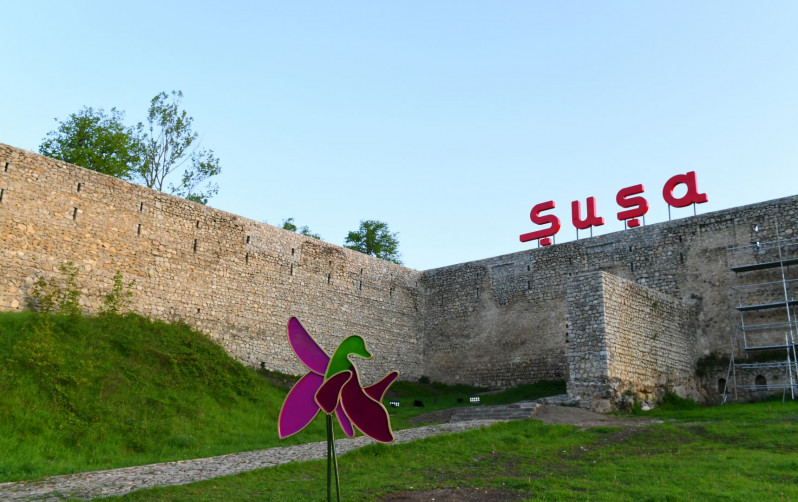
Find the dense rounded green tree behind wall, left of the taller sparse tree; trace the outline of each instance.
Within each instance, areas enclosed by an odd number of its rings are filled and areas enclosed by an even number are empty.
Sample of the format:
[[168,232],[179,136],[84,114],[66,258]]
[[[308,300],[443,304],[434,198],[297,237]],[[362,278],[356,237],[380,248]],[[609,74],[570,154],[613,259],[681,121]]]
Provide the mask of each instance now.
[[58,121],[58,129],[50,131],[39,145],[39,153],[101,172],[130,179],[139,163],[139,141],[136,130],[124,125],[125,113],[111,108],[108,115],[102,108],[83,107],[66,120]]

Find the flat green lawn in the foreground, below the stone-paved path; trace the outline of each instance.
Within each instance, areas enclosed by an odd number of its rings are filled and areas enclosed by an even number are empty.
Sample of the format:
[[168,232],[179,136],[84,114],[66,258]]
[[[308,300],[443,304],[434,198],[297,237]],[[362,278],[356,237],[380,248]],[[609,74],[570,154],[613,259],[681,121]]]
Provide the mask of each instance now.
[[[665,406],[665,423],[583,430],[535,420],[339,459],[346,500],[483,487],[519,500],[798,500],[798,404]],[[125,500],[323,500],[323,461],[287,464]],[[429,500],[419,497],[413,500]]]

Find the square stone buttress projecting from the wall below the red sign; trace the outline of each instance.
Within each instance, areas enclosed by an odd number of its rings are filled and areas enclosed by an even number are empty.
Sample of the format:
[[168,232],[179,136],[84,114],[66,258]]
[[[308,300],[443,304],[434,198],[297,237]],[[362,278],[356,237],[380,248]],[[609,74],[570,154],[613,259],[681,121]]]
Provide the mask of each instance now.
[[[606,411],[666,390],[698,398],[698,312],[665,293],[592,272],[568,284],[568,394]],[[629,398],[629,399],[627,399]]]

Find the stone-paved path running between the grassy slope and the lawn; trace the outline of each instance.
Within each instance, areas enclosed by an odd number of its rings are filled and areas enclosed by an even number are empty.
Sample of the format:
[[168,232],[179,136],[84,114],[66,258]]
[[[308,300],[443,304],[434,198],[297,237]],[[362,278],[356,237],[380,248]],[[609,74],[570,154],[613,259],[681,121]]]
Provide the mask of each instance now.
[[[486,427],[496,422],[497,420],[476,420],[473,422],[429,425],[416,429],[395,431],[394,435],[397,443],[406,443],[438,434]],[[343,455],[348,451],[371,443],[373,443],[371,439],[360,436],[353,439],[338,440],[335,442],[335,448],[339,455]],[[219,457],[68,474],[35,481],[0,483],[0,500],[57,501],[69,497],[90,499],[110,495],[124,495],[142,488],[183,485],[287,462],[322,459],[326,455],[327,443],[322,441],[270,448],[268,450],[231,453]]]

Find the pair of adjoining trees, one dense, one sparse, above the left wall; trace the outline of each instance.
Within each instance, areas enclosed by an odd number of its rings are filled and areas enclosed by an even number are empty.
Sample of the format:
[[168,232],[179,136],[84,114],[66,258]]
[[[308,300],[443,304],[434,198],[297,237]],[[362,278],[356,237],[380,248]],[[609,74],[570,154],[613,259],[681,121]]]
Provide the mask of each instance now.
[[211,178],[221,167],[213,150],[200,148],[182,98],[181,91],[152,98],[146,127],[125,126],[116,108],[109,116],[84,107],[47,134],[39,153],[207,204],[219,191]]

